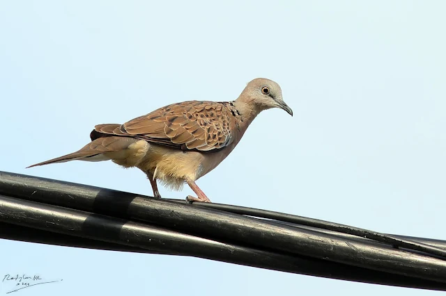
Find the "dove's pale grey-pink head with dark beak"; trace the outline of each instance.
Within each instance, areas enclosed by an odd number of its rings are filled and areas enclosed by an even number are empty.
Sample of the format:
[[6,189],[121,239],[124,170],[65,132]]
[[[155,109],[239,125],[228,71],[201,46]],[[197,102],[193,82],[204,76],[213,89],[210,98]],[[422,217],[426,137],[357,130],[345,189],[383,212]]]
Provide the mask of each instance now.
[[259,112],[270,108],[281,108],[293,116],[293,110],[286,105],[282,98],[282,89],[270,79],[256,78],[249,81],[239,99],[254,105]]

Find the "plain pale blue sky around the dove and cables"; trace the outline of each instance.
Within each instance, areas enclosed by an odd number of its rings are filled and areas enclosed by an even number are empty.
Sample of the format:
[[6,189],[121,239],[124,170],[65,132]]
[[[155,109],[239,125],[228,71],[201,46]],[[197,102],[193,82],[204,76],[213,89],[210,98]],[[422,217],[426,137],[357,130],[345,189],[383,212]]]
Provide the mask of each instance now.
[[[446,240],[445,13],[445,1],[0,1],[0,170],[151,195],[142,172],[112,162],[25,167],[83,147],[95,124],[233,100],[266,77],[294,117],[254,120],[197,182],[213,202]],[[440,295],[200,258],[0,248],[2,278],[63,279],[20,295]]]

